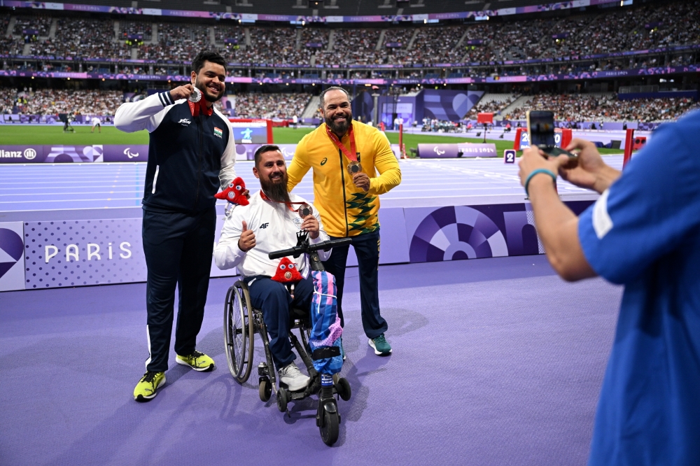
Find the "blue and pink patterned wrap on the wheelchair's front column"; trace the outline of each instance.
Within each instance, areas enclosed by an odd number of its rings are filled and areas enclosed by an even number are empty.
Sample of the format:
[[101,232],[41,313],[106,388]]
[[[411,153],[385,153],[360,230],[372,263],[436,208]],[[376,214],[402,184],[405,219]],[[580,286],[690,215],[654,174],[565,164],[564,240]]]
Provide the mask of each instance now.
[[337,318],[335,277],[327,271],[312,271],[314,298],[311,299],[311,359],[319,374],[337,374],[343,367]]

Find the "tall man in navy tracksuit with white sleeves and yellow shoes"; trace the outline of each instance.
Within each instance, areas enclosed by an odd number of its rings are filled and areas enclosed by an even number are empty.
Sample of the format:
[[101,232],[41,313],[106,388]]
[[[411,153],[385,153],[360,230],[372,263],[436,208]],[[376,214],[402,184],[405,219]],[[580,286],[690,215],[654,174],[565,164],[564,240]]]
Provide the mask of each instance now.
[[223,57],[200,52],[192,63],[191,84],[123,104],[114,117],[122,131],[151,133],[142,202],[150,354],[146,374],[134,389],[137,401],[151,400],[165,383],[176,285],[176,362],[197,371],[214,369],[214,360],[196,351],[195,342],[209,288],[214,195],[236,177],[233,132],[213,105],[223,97],[225,78]]

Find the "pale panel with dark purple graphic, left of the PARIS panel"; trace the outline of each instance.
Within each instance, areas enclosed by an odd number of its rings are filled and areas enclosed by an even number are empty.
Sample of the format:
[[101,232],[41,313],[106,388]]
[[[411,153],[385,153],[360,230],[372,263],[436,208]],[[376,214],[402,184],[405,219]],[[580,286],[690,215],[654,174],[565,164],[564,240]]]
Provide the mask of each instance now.
[[22,222],[0,223],[0,291],[25,289]]

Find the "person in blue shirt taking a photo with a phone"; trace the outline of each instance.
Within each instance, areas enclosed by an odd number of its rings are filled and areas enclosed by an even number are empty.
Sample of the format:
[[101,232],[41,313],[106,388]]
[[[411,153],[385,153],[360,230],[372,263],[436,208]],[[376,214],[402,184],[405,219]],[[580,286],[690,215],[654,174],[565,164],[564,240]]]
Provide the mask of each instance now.
[[[520,178],[549,263],[624,285],[589,465],[700,465],[700,111],[662,125],[624,172],[593,143],[572,167],[525,150]],[[576,217],[556,174],[601,197]],[[585,299],[585,297],[580,297]]]

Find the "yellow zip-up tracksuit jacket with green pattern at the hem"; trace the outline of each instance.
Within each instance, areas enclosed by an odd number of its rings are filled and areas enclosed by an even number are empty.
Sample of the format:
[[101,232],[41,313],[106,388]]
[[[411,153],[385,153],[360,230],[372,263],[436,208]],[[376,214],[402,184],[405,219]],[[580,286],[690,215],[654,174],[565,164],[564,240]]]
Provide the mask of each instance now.
[[[328,137],[325,123],[304,136],[287,169],[290,191],[309,168],[314,169],[314,205],[330,236],[357,236],[377,230],[379,195],[401,183],[401,169],[386,136],[364,123],[353,121],[352,125],[362,171],[370,177],[368,192],[353,184],[347,170],[350,161]],[[349,152],[349,136],[340,142]]]

